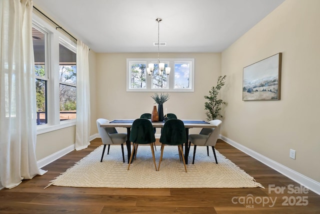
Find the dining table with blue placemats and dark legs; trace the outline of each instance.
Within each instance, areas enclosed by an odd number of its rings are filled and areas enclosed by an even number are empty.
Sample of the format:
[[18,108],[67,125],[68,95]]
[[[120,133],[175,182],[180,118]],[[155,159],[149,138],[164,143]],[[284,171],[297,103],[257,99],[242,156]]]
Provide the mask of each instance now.
[[[184,159],[185,164],[188,164],[188,135],[189,135],[189,128],[215,128],[216,125],[213,125],[207,121],[204,120],[183,120],[184,128],[185,128],[185,135],[186,135],[186,142],[184,143]],[[100,124],[100,127],[123,127],[126,128],[127,132],[127,140],[126,140],[126,148],[127,148],[127,159],[129,163],[130,155],[131,155],[131,142],[129,140],[130,131],[132,127],[134,119],[114,119],[107,123]],[[151,121],[152,126],[154,128],[162,128],[165,121]]]

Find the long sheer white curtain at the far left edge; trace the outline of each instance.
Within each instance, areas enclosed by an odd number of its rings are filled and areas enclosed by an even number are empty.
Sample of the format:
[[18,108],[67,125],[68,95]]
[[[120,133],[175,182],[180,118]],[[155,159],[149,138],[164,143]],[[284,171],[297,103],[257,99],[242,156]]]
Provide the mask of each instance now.
[[0,3],[0,180],[12,188],[46,171],[35,156],[32,0]]

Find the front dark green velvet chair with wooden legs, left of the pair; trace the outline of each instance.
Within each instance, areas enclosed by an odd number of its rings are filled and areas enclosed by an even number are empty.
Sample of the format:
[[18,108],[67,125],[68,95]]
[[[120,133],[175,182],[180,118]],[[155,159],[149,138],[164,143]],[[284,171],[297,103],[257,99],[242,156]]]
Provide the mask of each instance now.
[[154,137],[154,131],[153,131],[151,121],[145,118],[135,119],[131,126],[129,140],[133,143],[133,148],[130,155],[128,170],[129,170],[134,152],[135,152],[135,158],[136,158],[139,144],[150,144],[154,167],[155,167],[155,170],[157,170],[155,157],[154,157],[154,150],[153,150],[153,143],[155,142],[155,137]]

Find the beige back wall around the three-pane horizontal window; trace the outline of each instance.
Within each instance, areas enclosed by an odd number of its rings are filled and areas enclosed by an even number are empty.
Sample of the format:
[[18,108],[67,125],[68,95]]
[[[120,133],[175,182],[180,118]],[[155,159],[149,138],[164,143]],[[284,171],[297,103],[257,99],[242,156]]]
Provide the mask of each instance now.
[[[126,91],[126,58],[152,58],[156,53],[97,53],[96,54],[96,116],[109,120],[138,118],[152,111],[153,92]],[[164,58],[194,58],[194,92],[168,92],[163,104],[167,112],[183,119],[206,119],[204,95],[221,71],[220,53],[161,53]],[[171,74],[170,74],[171,75]],[[93,119],[93,118],[92,118]],[[195,130],[194,130],[195,131]],[[192,132],[192,130],[190,130]]]

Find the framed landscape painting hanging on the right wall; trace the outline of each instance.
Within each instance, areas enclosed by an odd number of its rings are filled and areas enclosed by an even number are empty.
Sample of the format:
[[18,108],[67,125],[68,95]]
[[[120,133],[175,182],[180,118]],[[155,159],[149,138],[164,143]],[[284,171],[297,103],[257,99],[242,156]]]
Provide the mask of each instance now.
[[243,67],[242,100],[279,100],[281,55],[277,53]]

